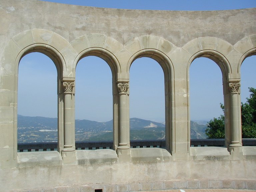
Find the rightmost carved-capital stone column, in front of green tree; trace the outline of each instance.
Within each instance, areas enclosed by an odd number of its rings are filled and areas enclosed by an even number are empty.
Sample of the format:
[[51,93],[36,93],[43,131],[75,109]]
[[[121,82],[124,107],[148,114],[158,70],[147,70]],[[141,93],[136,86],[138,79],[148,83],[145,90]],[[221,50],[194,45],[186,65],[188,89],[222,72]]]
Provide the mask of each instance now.
[[231,158],[239,159],[242,156],[241,137],[241,103],[239,87],[240,82],[230,82],[230,113],[231,113],[231,144],[229,145]]

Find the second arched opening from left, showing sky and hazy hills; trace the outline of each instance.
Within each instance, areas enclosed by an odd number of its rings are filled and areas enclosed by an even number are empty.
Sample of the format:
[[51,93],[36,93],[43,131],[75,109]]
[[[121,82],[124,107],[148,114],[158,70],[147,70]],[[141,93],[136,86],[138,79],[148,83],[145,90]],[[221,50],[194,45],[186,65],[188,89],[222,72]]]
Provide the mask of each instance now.
[[113,141],[112,73],[101,58],[87,56],[76,66],[75,140]]

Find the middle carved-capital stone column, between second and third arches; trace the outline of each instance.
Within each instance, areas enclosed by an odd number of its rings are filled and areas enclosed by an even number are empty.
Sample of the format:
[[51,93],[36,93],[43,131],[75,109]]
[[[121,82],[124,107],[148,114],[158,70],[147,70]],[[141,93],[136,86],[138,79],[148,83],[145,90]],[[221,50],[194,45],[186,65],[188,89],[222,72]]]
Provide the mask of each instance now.
[[118,107],[118,132],[119,143],[117,154],[119,161],[130,161],[130,118],[129,118],[129,83],[128,81],[117,84],[119,90],[119,107]]

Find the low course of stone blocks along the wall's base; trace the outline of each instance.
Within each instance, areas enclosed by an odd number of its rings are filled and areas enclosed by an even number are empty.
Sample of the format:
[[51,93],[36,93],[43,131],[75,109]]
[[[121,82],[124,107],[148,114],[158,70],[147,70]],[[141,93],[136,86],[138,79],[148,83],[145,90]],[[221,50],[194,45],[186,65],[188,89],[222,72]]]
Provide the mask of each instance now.
[[[256,180],[184,180],[184,181],[159,181],[135,182],[131,184],[86,184],[56,186],[53,188],[35,188],[29,190],[12,190],[12,192],[135,192],[174,189],[245,189],[255,191]],[[8,192],[8,191],[6,191]]]

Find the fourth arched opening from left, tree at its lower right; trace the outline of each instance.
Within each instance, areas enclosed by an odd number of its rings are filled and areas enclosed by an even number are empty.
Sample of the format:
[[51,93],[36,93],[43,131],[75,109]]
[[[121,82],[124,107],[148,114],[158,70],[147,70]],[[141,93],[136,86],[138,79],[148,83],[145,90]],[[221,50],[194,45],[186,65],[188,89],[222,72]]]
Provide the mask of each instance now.
[[[197,58],[190,65],[189,79],[190,138],[224,138],[224,112],[220,106],[220,103],[224,104],[224,97],[220,67],[211,59]],[[211,121],[218,123],[220,134],[206,134],[205,130],[209,128],[207,125],[210,125]]]

